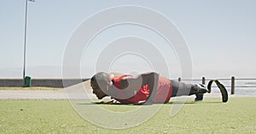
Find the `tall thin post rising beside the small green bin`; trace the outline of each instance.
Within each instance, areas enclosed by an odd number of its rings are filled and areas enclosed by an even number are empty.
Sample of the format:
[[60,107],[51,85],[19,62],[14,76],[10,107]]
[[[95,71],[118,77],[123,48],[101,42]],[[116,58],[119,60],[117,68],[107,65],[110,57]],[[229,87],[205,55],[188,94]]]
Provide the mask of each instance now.
[[24,63],[23,63],[23,87],[26,87],[26,84],[25,84],[25,75],[26,75],[26,20],[27,20],[27,1],[30,1],[30,2],[35,2],[35,0],[26,0],[26,11],[25,11],[25,30],[24,30],[24,52],[23,52],[23,55],[24,55]]

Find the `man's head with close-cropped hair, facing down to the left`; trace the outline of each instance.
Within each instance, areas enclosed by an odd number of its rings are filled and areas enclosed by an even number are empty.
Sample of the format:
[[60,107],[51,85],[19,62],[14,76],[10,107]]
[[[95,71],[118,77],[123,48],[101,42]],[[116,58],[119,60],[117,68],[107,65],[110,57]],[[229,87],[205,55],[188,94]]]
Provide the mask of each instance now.
[[92,93],[96,94],[96,97],[99,99],[108,96],[105,92],[107,92],[111,83],[110,76],[105,72],[96,73],[96,75],[90,78],[90,86],[93,89]]

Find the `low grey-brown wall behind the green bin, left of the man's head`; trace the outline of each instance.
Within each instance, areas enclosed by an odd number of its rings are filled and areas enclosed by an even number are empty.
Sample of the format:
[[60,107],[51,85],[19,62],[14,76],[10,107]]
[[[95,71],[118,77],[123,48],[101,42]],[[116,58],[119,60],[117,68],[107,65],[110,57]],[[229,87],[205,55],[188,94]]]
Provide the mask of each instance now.
[[[70,87],[75,84],[78,84],[82,81],[87,81],[89,79],[32,79],[32,87]],[[0,79],[0,87],[22,87],[22,79]]]

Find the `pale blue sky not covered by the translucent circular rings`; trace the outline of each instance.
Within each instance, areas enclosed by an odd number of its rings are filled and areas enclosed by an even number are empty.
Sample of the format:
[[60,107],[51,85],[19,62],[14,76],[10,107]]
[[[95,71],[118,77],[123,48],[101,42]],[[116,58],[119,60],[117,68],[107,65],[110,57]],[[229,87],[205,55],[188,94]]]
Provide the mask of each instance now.
[[[0,77],[22,78],[23,45],[25,25],[25,0],[1,1],[0,3]],[[194,78],[256,77],[256,2],[253,0],[37,0],[28,3],[26,75],[34,78],[61,78],[63,53],[73,31],[91,15],[104,8],[121,5],[135,5],[152,8],[164,14],[177,25],[187,42],[192,59]],[[105,18],[108,20],[108,16]],[[161,24],[159,24],[161,25]],[[159,36],[131,25],[114,27],[99,35],[92,42],[90,54],[97,53],[104,45],[97,42],[111,35],[114,38],[125,35],[141,36],[146,32],[151,42],[161,42]],[[118,33],[118,34],[117,34]],[[141,34],[140,34],[141,33]],[[101,40],[102,36],[102,40]],[[153,37],[152,37],[153,36]],[[161,43],[165,51],[165,44]],[[166,53],[166,52],[164,52]],[[86,53],[84,54],[86,55]],[[166,56],[166,54],[164,54]],[[168,57],[168,55],[166,56]],[[84,58],[85,59],[85,58]],[[170,53],[168,65],[172,78],[177,78],[179,69],[175,54]],[[95,73],[96,59],[81,61],[81,77]],[[124,64],[125,60],[125,64]],[[113,69],[129,73],[150,70],[137,63],[146,64],[134,55],[116,60]],[[172,64],[175,63],[175,64]],[[129,65],[133,68],[129,69]],[[137,67],[135,69],[134,67]]]

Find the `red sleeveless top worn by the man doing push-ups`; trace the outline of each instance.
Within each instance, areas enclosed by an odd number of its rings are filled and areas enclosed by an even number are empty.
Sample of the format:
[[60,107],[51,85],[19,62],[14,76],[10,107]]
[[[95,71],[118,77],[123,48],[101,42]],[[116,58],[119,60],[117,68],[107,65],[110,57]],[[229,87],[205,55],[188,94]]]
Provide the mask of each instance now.
[[[121,76],[113,76],[111,80],[113,81],[113,85],[121,90],[120,82],[124,77],[131,75],[121,75]],[[120,103],[138,103],[139,101],[147,100],[149,95],[148,85],[141,87],[137,94],[131,98],[127,99],[117,99]],[[121,92],[120,92],[121,93]],[[121,94],[120,96],[125,96],[125,94]],[[172,97],[172,84],[171,81],[166,79],[165,77],[160,76],[158,82],[157,93],[154,98],[154,103],[168,103],[170,98]]]

